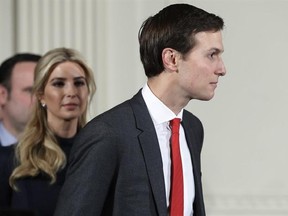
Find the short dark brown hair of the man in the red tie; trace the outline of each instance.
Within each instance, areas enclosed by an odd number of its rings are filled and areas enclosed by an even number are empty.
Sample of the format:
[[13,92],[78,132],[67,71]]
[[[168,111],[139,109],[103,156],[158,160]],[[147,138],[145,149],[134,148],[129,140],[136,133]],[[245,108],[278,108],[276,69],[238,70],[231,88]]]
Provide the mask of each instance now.
[[223,27],[221,17],[189,4],[172,4],[149,17],[138,33],[140,57],[146,76],[157,76],[164,70],[163,49],[175,49],[185,57],[195,46],[196,33],[217,32]]

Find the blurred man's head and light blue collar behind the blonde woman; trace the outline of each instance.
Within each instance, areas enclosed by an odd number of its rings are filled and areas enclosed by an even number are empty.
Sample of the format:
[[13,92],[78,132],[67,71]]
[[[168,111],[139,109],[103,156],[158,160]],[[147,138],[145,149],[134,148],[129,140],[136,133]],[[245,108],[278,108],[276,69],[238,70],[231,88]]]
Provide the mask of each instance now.
[[34,69],[40,55],[16,53],[0,65],[0,146],[18,142],[34,102]]

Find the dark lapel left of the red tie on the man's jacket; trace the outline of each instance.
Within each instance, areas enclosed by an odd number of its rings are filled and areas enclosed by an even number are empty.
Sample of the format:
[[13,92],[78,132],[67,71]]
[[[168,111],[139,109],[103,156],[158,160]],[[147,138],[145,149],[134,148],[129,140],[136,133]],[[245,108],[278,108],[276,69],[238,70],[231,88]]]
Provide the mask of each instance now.
[[141,94],[141,90],[131,99],[136,125],[142,131],[139,141],[143,150],[148,178],[150,180],[153,196],[159,215],[167,215],[165,183],[160,147],[149,115],[148,109]]

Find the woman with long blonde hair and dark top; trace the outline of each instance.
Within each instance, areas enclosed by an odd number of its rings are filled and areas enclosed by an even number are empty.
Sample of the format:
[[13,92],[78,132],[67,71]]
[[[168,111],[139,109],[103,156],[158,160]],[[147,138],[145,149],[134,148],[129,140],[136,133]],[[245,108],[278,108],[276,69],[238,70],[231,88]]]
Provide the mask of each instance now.
[[74,137],[86,124],[96,90],[93,73],[73,49],[48,51],[37,64],[34,112],[16,147],[11,207],[52,216]]

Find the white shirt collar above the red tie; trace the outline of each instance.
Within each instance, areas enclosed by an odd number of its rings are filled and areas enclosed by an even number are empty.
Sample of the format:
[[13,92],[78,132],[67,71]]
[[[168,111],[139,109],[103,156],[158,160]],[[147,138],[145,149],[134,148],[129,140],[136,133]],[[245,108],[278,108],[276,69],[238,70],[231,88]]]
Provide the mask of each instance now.
[[142,89],[142,96],[147,105],[150,116],[154,124],[169,122],[171,119],[180,118],[182,120],[183,109],[176,116],[161,100],[159,100],[151,91],[146,83]]

